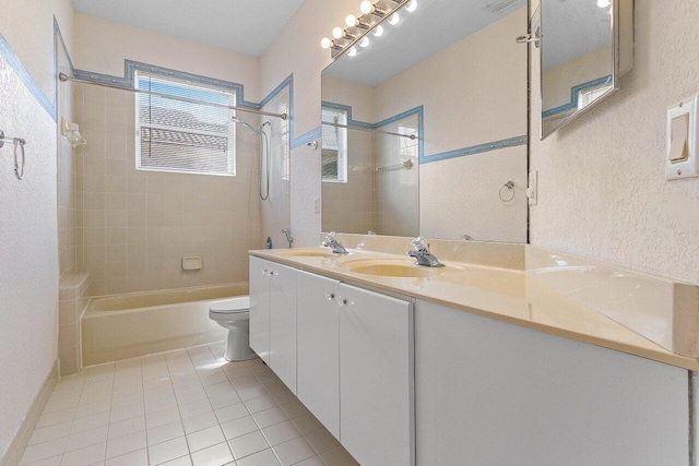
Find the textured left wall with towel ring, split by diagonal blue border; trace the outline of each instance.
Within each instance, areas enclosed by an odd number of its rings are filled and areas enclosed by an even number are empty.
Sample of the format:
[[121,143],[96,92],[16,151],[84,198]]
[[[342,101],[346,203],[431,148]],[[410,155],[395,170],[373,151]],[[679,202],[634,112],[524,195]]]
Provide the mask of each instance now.
[[[0,1],[0,33],[54,100],[54,14],[68,46],[69,0]],[[0,148],[0,456],[21,427],[57,357],[58,235],[56,123],[0,58],[0,129],[24,138],[26,176]]]

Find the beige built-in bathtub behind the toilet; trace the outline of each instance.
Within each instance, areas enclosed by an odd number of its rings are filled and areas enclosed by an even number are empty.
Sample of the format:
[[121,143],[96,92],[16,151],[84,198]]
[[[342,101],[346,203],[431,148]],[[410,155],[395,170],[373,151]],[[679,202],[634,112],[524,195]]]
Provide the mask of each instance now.
[[167,289],[90,299],[81,319],[83,366],[223,342],[211,302],[247,296],[248,284]]

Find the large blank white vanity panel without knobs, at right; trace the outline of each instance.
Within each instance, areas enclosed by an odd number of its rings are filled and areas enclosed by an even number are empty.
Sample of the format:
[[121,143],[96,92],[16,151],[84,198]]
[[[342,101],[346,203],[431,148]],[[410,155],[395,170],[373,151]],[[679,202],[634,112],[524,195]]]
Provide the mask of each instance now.
[[417,463],[689,463],[687,371],[418,301]]

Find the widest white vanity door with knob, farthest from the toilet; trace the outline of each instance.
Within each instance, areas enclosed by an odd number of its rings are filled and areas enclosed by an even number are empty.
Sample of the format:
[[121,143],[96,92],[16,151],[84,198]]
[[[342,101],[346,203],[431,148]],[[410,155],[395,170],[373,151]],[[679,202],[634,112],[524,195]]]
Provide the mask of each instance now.
[[413,306],[339,289],[341,443],[363,466],[414,465]]

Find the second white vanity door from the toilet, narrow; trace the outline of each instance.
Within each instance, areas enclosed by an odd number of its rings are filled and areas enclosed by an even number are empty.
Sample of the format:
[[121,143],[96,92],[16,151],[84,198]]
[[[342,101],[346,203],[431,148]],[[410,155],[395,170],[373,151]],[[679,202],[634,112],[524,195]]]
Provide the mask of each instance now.
[[270,362],[296,394],[296,270],[270,263]]

